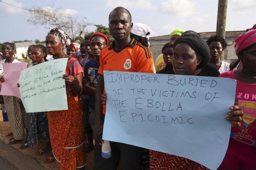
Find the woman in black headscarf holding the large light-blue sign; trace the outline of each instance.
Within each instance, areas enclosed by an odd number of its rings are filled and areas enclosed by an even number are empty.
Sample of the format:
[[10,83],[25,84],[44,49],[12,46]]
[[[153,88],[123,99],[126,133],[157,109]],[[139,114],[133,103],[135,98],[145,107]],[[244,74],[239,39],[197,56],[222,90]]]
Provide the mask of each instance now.
[[[172,64],[167,65],[164,71],[167,74],[197,75],[196,70],[203,68],[208,63],[209,56],[209,47],[202,38],[197,34],[184,34],[174,42],[174,57],[172,58]],[[172,67],[172,69],[169,67]],[[202,69],[202,71],[203,70],[204,69]],[[202,73],[202,71],[199,75],[211,75],[209,70],[205,71],[206,73]],[[227,117],[226,119],[232,123],[232,126],[240,126],[243,115],[241,108],[232,106],[230,107],[230,110],[231,111],[228,113],[230,117]],[[154,150],[150,150],[150,166],[152,170],[207,169],[203,165],[187,158]]]

